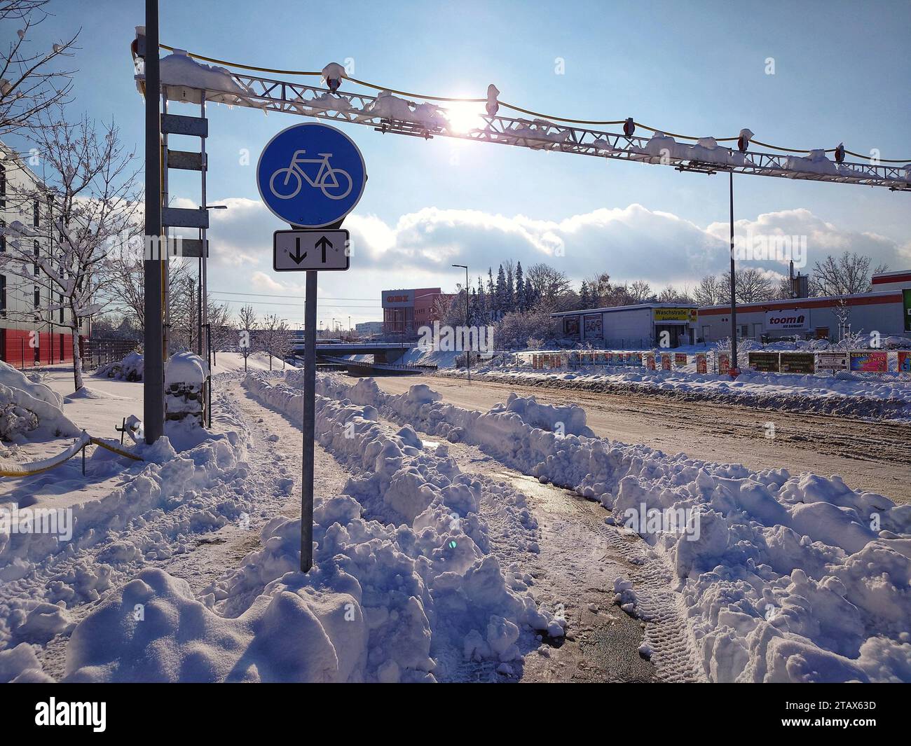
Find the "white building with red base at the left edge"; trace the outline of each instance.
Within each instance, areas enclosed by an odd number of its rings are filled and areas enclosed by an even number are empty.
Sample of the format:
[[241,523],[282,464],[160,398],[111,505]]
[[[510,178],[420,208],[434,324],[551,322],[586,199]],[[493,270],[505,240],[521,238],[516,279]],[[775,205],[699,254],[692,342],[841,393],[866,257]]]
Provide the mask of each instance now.
[[[15,150],[0,142],[0,253],[10,249],[4,229],[15,220],[47,235],[47,203],[25,199],[43,186]],[[34,240],[36,257],[46,255],[46,242]],[[38,265],[34,271],[40,271]],[[73,360],[73,338],[63,324],[64,312],[50,310],[62,299],[50,296],[46,288],[0,266],[0,360],[16,368]]]

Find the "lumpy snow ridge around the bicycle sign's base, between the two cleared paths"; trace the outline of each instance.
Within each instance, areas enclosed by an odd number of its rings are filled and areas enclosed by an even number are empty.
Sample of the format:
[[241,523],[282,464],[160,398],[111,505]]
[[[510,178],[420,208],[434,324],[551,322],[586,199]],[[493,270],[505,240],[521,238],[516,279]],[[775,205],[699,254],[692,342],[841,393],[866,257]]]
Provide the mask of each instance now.
[[[245,385],[302,415],[300,391],[267,376]],[[527,541],[537,526],[523,496],[461,474],[445,446],[427,453],[409,427],[386,432],[372,406],[316,406],[318,439],[361,476],[315,497],[310,573],[299,571],[300,521],[283,516],[203,598],[145,569],[78,625],[67,680],[425,681],[465,659],[520,662],[523,629],[562,635],[530,578],[499,567],[479,516],[482,501],[505,506],[512,536]]]

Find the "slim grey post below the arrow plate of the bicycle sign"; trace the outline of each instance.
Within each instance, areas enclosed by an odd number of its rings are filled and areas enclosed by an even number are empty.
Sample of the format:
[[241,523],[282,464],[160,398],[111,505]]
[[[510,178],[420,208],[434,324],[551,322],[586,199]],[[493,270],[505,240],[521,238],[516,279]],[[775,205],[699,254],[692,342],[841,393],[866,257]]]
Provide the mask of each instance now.
[[303,469],[301,570],[313,567],[313,431],[316,428],[316,276],[307,271],[303,309]]

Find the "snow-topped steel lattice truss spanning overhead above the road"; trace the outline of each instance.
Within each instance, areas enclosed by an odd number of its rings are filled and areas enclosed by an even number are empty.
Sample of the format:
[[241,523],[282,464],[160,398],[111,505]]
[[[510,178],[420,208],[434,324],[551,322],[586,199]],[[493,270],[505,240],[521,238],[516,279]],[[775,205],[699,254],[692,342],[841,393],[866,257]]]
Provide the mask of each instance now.
[[[137,76],[137,80],[140,88],[144,87],[144,77]],[[480,140],[533,150],[639,161],[707,174],[732,171],[754,176],[833,181],[911,191],[911,168],[908,166],[834,163],[828,159],[821,164],[813,164],[807,158],[792,155],[752,149],[740,153],[730,148],[701,148],[683,143],[673,143],[672,149],[661,148],[660,142],[650,138],[571,127],[544,119],[499,115],[478,114],[477,127],[460,131],[450,126],[445,108],[432,104],[418,106],[404,99],[377,98],[343,91],[333,93],[327,88],[234,72],[231,73],[230,86],[226,84],[226,87],[229,89],[206,90],[206,99],[232,106],[351,122],[373,127],[379,132],[418,138]],[[198,88],[175,85],[163,85],[162,88],[170,100],[200,101],[201,91]],[[390,103],[396,108],[395,115],[400,118],[389,115]]]

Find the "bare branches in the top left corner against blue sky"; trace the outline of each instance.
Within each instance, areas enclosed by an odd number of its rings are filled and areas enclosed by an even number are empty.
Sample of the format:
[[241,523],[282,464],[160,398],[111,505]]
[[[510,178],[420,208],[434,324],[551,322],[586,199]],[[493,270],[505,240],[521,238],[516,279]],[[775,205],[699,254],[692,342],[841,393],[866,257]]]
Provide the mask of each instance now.
[[[33,29],[48,15],[49,0],[0,0],[0,27],[12,31],[9,46],[0,52],[0,137],[33,128],[48,108],[67,98],[73,70],[58,70],[54,60],[73,56],[78,32],[50,49],[31,49]],[[4,35],[5,36],[5,35]]]

